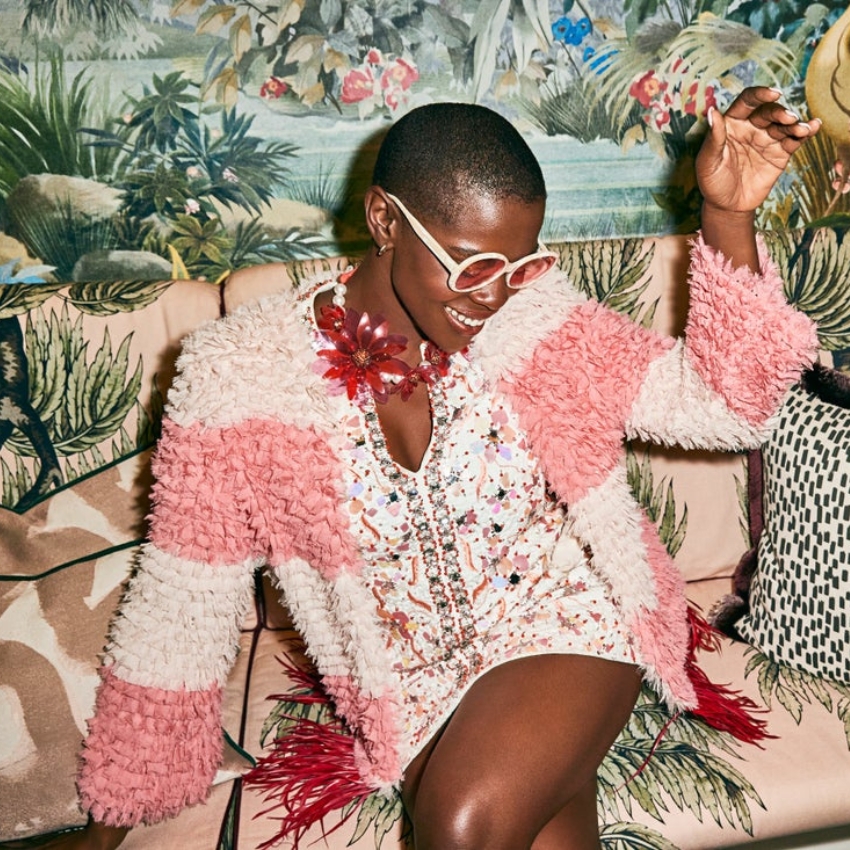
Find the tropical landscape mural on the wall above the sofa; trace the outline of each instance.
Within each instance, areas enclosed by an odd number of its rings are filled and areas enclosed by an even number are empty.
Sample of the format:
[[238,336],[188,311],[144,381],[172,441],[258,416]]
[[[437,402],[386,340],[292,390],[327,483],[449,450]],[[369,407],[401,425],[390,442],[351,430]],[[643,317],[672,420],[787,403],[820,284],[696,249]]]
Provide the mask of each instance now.
[[[356,253],[380,133],[434,100],[486,104],[522,130],[550,190],[547,241],[690,231],[707,110],[763,82],[805,112],[810,68],[832,72],[812,54],[841,35],[843,11],[0,0],[0,260],[60,280],[219,279]],[[807,146],[763,226],[843,214],[850,123],[835,127]]]

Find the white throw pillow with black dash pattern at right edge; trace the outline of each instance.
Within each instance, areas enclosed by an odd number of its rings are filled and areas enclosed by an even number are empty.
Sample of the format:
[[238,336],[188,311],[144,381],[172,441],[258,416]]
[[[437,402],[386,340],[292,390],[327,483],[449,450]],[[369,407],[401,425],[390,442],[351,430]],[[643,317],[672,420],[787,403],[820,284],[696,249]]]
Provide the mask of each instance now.
[[850,682],[850,376],[807,375],[761,457],[764,526],[737,631],[775,661]]

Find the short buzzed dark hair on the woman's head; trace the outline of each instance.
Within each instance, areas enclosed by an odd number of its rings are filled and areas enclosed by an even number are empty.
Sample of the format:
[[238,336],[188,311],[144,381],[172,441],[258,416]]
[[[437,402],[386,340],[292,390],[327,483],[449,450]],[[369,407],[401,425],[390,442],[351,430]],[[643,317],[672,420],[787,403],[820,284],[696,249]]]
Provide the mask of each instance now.
[[546,198],[540,164],[516,127],[471,103],[431,103],[399,118],[378,151],[372,182],[415,212],[449,222],[476,193],[529,204]]

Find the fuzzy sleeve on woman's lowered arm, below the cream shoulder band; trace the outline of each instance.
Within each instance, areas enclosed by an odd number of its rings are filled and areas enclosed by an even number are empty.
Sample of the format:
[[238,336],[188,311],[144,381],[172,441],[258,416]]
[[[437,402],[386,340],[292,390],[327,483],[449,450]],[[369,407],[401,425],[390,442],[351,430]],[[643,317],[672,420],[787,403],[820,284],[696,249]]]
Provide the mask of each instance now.
[[222,689],[265,548],[239,448],[237,433],[164,423],[149,538],[82,753],[81,801],[100,823],[154,823],[201,802],[221,761]]

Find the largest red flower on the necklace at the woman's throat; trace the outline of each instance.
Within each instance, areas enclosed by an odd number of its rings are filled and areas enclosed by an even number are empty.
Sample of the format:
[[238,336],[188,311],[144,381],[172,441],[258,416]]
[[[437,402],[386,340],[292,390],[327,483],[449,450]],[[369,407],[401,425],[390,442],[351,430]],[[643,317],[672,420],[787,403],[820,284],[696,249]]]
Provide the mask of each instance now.
[[407,339],[389,333],[382,316],[375,316],[374,327],[368,313],[361,315],[351,308],[345,310],[341,324],[338,318],[335,308],[322,311],[322,330],[334,346],[318,352],[328,361],[324,377],[342,382],[350,399],[361,390],[368,390],[375,401],[385,402],[392,389],[382,373],[404,377],[410,371],[396,357],[407,348]]

